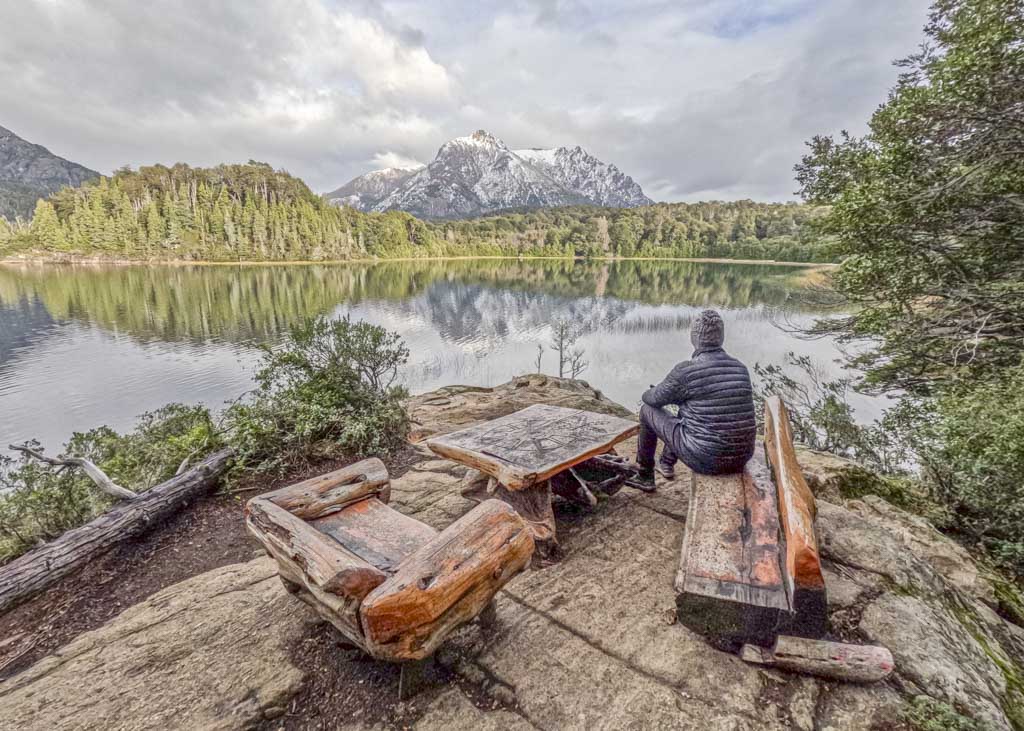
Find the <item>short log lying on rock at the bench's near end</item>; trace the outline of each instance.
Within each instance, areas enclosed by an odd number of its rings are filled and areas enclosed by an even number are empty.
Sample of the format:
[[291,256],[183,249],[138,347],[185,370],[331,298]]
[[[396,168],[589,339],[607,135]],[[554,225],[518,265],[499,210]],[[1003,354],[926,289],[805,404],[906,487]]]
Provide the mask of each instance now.
[[831,678],[849,683],[874,683],[893,672],[893,655],[880,645],[846,645],[779,635],[771,649],[743,645],[748,662]]

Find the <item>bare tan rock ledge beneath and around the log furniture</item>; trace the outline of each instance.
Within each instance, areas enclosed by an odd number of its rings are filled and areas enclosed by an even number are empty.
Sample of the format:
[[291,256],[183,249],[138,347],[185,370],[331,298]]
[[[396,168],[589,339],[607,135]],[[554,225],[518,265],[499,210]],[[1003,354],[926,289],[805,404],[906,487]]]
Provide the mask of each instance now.
[[[583,382],[530,376],[413,398],[413,437],[538,402],[628,414]],[[422,445],[416,451],[394,480],[392,505],[443,527],[471,507],[459,492],[464,469]],[[844,501],[841,461],[801,459],[827,498],[819,499],[818,532],[834,631],[889,647],[897,670],[887,683],[843,685],[749,665],[675,621],[689,484],[682,474],[654,494],[624,490],[593,511],[558,508],[564,558],[506,588],[497,629],[469,626],[442,648],[440,661],[461,679],[421,700],[412,723],[879,729],[899,727],[908,700],[928,695],[990,728],[1024,729],[1024,629],[1000,616],[989,577],[926,521],[881,499]],[[285,714],[302,688],[295,644],[316,621],[285,593],[268,559],[217,569],[4,683],[0,718],[22,729],[259,725]],[[335,727],[364,724],[339,718]]]

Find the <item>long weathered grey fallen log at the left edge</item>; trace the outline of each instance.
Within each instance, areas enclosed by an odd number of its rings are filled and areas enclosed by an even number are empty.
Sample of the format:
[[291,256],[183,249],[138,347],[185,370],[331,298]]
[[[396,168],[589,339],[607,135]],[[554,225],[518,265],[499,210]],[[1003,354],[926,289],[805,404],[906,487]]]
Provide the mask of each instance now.
[[137,535],[216,484],[233,451],[222,449],[187,472],[121,503],[0,566],[0,612],[49,587],[125,539]]

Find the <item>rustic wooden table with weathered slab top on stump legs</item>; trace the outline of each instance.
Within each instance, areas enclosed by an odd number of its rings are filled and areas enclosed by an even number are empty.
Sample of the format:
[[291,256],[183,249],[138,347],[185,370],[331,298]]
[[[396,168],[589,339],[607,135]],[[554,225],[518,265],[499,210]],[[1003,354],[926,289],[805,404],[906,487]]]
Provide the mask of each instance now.
[[468,465],[492,479],[480,494],[499,498],[527,521],[534,539],[557,545],[552,491],[583,505],[596,505],[593,489],[617,490],[635,470],[604,458],[637,433],[637,422],[546,403],[427,440],[441,457]]

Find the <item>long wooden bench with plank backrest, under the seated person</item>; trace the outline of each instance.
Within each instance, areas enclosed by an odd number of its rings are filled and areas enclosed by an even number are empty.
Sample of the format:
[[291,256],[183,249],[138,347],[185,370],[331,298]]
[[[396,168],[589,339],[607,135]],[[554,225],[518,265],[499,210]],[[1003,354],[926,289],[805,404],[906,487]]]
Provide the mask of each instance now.
[[776,396],[765,404],[764,455],[742,474],[693,475],[676,605],[682,624],[733,649],[825,632],[814,497]]

